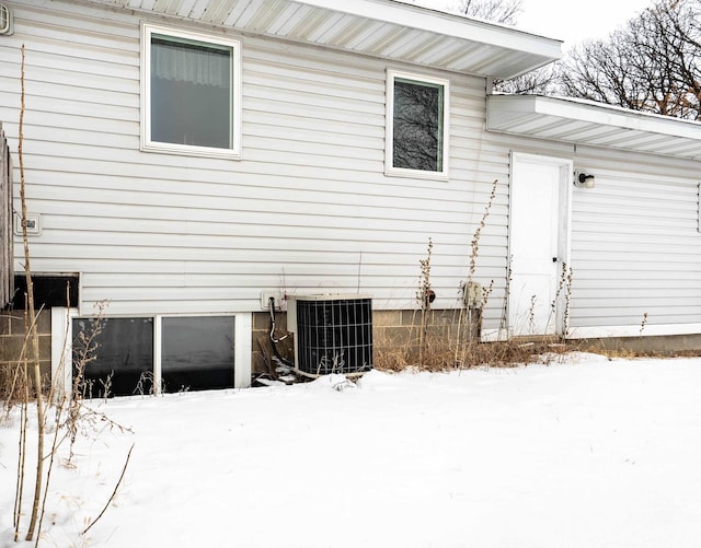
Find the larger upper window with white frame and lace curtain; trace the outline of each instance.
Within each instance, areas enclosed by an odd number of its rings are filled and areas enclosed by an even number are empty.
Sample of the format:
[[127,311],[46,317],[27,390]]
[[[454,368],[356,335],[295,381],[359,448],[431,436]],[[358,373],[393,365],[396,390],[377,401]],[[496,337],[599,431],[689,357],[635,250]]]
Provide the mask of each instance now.
[[141,150],[241,158],[241,43],[141,26]]

